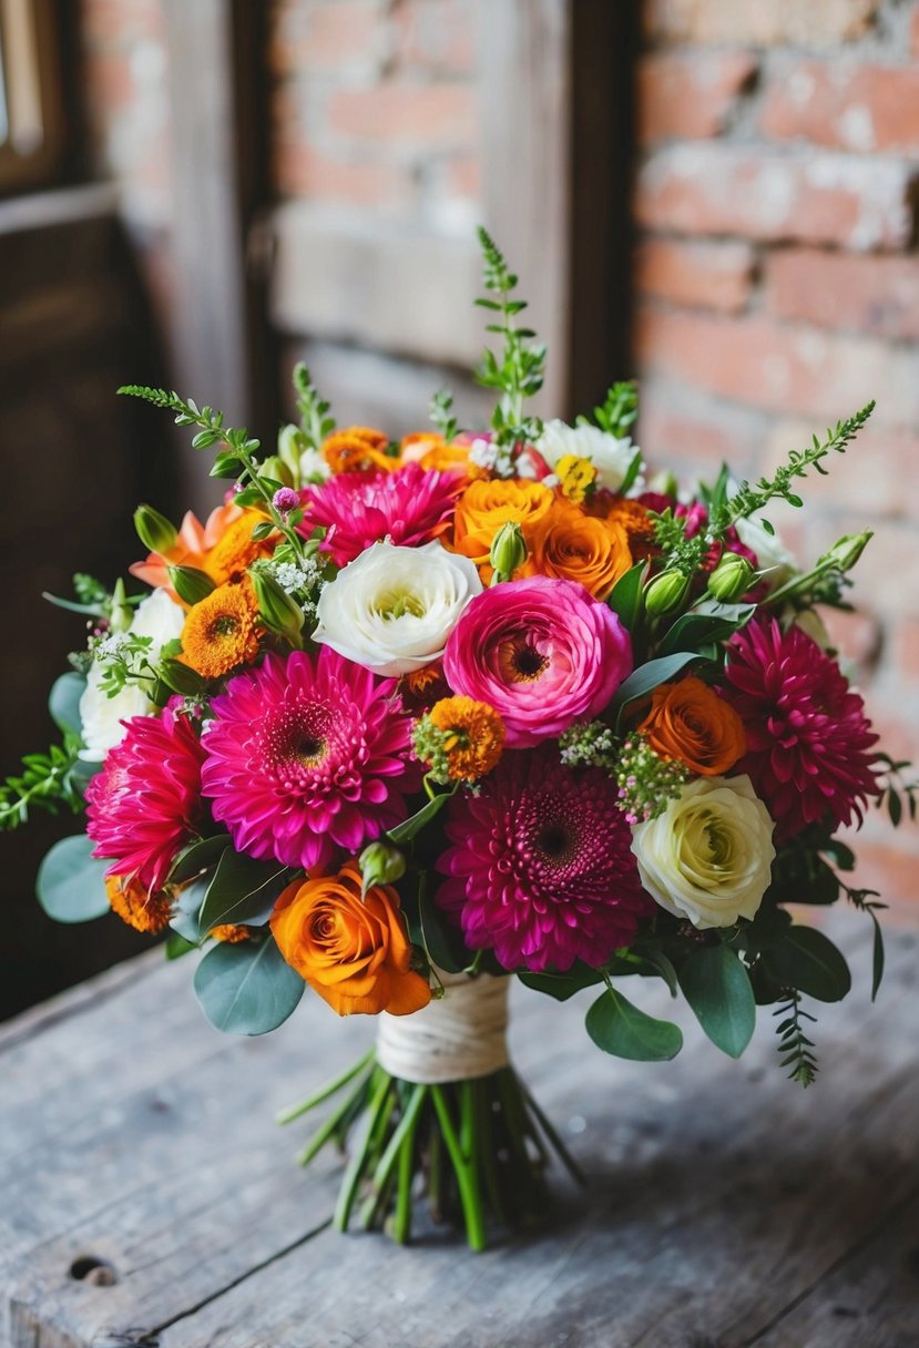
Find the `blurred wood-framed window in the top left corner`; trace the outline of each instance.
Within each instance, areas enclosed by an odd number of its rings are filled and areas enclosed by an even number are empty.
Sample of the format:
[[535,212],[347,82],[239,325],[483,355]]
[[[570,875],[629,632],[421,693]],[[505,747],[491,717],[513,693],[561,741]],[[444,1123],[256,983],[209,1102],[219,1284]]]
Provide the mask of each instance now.
[[54,0],[0,0],[0,191],[55,179],[65,148]]

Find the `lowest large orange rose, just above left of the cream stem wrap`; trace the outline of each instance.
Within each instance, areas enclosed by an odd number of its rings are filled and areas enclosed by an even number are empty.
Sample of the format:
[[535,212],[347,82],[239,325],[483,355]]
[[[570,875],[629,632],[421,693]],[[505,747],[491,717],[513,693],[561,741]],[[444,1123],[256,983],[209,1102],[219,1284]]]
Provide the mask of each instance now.
[[431,1000],[427,980],[411,969],[399,895],[375,884],[361,899],[354,861],[288,886],[271,930],[287,962],[338,1015],[408,1015]]

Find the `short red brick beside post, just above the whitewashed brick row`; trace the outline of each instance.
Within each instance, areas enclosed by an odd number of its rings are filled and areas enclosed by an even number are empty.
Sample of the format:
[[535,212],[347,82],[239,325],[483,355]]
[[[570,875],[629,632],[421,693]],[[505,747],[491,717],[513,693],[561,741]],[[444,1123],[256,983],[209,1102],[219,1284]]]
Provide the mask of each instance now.
[[639,139],[717,136],[757,65],[749,51],[644,57],[637,71]]

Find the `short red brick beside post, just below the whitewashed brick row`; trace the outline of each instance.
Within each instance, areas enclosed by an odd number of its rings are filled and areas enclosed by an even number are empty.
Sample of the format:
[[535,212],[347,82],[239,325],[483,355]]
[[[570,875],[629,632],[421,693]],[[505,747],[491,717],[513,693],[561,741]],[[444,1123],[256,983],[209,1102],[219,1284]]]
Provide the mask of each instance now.
[[747,307],[753,266],[749,244],[645,239],[635,257],[635,287],[674,305],[737,313]]

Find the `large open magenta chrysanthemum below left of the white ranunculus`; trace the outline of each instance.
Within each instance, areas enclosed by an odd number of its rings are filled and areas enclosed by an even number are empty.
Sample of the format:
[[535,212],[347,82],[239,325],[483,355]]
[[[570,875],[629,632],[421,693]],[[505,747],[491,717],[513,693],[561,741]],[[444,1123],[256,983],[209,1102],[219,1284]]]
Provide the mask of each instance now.
[[239,852],[325,865],[406,818],[418,766],[395,686],[329,647],[230,679],[202,735],[202,791]]

